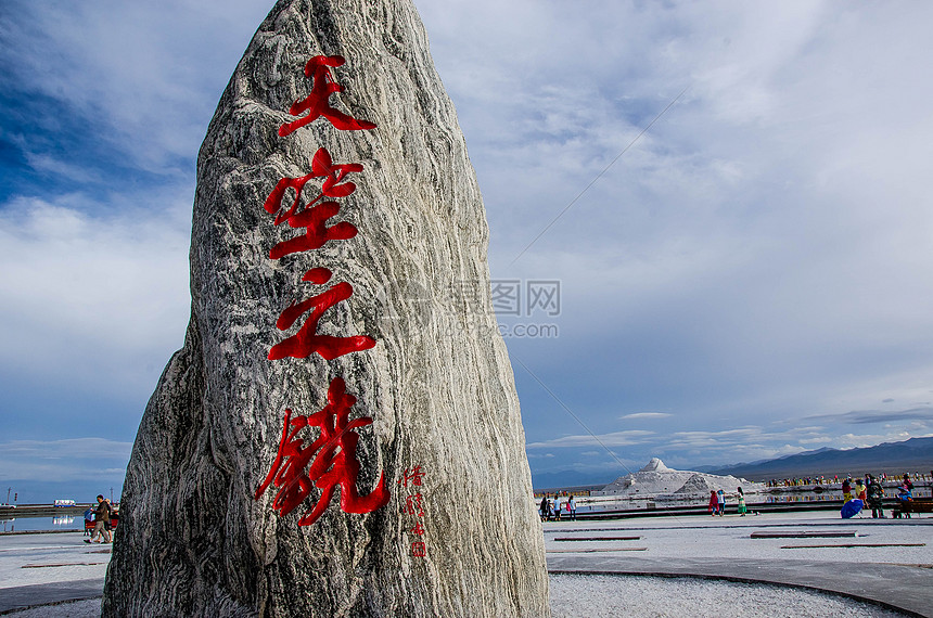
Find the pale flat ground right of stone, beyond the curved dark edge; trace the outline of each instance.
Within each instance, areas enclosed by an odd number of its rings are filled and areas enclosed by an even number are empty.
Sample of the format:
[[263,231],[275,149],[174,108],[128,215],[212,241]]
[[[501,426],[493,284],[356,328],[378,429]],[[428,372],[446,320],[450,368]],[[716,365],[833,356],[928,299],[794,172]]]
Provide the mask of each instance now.
[[933,618],[933,518],[798,513],[544,524],[552,574],[769,582]]

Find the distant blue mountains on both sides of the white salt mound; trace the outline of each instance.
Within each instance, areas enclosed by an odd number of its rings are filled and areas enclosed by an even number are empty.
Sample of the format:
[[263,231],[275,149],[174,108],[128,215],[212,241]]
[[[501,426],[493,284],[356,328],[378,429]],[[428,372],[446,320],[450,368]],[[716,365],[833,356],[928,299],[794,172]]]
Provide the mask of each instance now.
[[[910,438],[903,442],[884,442],[864,449],[822,448],[795,455],[774,460],[761,460],[728,466],[700,466],[690,468],[708,474],[732,475],[749,480],[769,480],[772,478],[793,478],[805,476],[853,476],[865,473],[904,474],[933,471],[933,438]],[[626,471],[600,474],[583,473],[574,469],[561,472],[532,472],[532,485],[542,489],[567,489],[571,487],[591,487],[609,485]]]

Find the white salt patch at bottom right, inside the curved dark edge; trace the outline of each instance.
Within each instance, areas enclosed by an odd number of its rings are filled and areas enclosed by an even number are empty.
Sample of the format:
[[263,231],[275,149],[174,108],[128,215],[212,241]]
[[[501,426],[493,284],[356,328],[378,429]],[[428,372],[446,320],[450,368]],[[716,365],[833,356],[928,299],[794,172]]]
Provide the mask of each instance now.
[[552,575],[551,615],[593,618],[662,616],[788,618],[902,617],[869,603],[798,588],[614,575]]

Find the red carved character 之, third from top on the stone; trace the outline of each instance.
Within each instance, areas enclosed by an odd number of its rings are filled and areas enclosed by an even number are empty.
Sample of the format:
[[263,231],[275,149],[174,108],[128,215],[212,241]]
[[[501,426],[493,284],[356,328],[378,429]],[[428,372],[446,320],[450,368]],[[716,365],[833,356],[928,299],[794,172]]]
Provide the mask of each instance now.
[[[303,281],[323,284],[330,281],[330,278],[331,271],[328,269],[315,268],[307,271],[302,279]],[[292,302],[276,321],[276,326],[280,331],[286,331],[292,327],[292,324],[308,310],[311,311],[311,314],[297,333],[279,342],[269,349],[269,360],[279,360],[285,357],[306,359],[316,352],[321,358],[333,360],[337,357],[368,350],[375,346],[375,339],[366,335],[335,337],[333,335],[318,334],[318,323],[321,321],[324,311],[350,296],[353,296],[353,285],[344,281],[307,300]]]

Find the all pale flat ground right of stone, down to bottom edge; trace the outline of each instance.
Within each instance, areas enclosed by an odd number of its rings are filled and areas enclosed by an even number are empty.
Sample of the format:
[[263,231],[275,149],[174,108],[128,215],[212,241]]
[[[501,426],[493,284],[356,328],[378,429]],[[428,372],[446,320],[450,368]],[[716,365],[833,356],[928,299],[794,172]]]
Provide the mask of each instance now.
[[[542,527],[552,571],[554,616],[904,615],[806,587],[892,603],[912,610],[909,615],[933,616],[933,598],[928,592],[933,589],[933,518],[929,516],[842,519],[836,512],[828,511],[745,517],[564,520],[546,522]],[[754,539],[754,532],[856,536]],[[584,540],[596,537],[637,538]],[[553,572],[584,569],[590,572]],[[798,584],[595,575],[618,571],[692,572]]]

